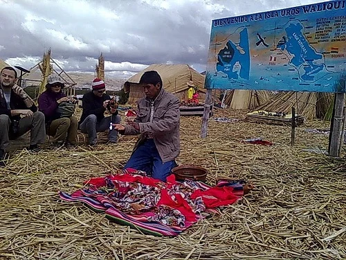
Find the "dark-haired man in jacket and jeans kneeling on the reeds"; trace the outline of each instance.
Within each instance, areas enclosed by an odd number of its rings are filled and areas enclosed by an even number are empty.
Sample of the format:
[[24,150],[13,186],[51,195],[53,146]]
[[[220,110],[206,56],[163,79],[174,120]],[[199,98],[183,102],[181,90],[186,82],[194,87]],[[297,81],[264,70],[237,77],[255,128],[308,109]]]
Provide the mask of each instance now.
[[146,97],[138,101],[136,119],[127,125],[115,124],[114,128],[123,135],[140,134],[125,168],[145,171],[165,181],[180,151],[179,99],[163,89],[157,71],[146,71],[139,84]]

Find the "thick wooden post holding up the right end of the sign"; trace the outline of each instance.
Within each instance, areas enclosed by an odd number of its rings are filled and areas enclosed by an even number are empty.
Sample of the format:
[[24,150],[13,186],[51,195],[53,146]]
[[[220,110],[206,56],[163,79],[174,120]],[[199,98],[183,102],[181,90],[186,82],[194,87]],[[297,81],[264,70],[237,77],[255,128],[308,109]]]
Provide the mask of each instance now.
[[329,155],[333,157],[340,156],[340,139],[342,138],[343,132],[343,110],[345,105],[345,94],[344,93],[336,93],[335,94],[335,103],[334,103],[334,116],[332,120],[332,129],[330,132],[329,138]]

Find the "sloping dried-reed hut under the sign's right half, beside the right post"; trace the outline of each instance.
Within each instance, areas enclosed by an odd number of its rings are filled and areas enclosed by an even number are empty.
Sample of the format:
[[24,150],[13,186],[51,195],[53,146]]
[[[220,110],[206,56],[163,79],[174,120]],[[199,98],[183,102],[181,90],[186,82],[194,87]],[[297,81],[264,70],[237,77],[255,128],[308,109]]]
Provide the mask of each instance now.
[[330,121],[333,108],[333,94],[322,92],[280,92],[256,110],[268,112],[295,112],[306,119],[323,119]]

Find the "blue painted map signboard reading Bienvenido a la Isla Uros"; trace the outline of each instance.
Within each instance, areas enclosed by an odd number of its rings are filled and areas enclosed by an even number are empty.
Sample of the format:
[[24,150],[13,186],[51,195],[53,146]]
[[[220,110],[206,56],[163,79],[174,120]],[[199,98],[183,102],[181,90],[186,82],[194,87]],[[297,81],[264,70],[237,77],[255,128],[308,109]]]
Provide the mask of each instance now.
[[212,21],[206,87],[345,92],[345,1]]

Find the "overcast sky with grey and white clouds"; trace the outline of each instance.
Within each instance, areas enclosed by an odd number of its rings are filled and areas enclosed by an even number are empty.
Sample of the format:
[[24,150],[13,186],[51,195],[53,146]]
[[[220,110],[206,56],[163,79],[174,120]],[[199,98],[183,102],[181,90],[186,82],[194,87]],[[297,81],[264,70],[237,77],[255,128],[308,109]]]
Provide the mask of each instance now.
[[51,48],[66,71],[127,78],[153,63],[206,69],[211,20],[319,0],[0,0],[0,59],[26,68]]

